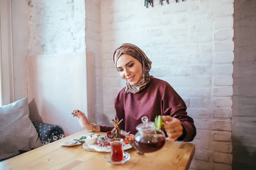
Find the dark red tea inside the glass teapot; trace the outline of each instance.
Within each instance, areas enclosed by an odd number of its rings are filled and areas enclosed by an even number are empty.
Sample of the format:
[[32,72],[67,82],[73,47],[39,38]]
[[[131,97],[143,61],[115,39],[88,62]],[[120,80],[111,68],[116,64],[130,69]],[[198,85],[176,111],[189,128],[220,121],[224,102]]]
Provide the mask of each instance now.
[[145,135],[137,136],[134,140],[134,143],[138,150],[143,153],[150,153],[157,150],[160,150],[165,144],[165,137],[163,135]]

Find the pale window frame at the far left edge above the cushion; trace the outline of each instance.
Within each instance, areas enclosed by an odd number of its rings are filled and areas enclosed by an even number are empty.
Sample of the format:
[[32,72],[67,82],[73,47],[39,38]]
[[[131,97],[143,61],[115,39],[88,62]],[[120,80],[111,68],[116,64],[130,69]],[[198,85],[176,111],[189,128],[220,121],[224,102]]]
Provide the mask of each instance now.
[[11,0],[0,0],[0,105],[14,102]]

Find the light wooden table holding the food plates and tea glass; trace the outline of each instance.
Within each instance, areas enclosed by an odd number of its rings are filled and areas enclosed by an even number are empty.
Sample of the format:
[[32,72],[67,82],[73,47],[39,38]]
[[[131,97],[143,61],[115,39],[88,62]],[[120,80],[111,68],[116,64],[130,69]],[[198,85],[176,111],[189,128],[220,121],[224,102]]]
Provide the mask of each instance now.
[[[131,159],[125,164],[114,165],[105,161],[106,153],[88,152],[82,145],[61,147],[59,144],[83,135],[87,130],[67,136],[35,150],[0,162],[1,170],[187,170],[195,153],[195,145],[184,142],[166,144],[154,153],[138,155],[129,149]],[[99,133],[104,135],[104,133]]]

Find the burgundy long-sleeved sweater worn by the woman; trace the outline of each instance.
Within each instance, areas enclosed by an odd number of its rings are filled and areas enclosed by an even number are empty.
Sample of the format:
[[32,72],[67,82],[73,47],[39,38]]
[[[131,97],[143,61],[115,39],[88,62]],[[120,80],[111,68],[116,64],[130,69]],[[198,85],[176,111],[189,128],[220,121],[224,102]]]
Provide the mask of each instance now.
[[[183,135],[178,141],[190,142],[196,135],[194,121],[187,115],[186,104],[169,85],[168,82],[151,76],[150,82],[137,94],[125,94],[123,88],[116,96],[116,118],[123,119],[119,127],[132,134],[137,132],[136,126],[141,122],[142,116],[154,122],[157,115],[169,115],[180,120],[183,126]],[[113,127],[100,126],[101,132],[111,131]],[[164,128],[163,131],[165,132]],[[166,133],[166,132],[165,132]]]

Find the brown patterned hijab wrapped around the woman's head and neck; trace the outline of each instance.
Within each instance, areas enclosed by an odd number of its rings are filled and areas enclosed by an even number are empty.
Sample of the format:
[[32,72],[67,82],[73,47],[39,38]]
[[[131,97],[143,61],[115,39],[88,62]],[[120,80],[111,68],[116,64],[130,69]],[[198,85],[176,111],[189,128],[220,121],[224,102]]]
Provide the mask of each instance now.
[[137,59],[143,68],[142,77],[137,85],[130,85],[129,82],[126,82],[125,93],[136,94],[139,93],[150,80],[149,71],[151,69],[151,61],[148,59],[146,54],[136,45],[125,43],[116,48],[116,51],[113,54],[113,61],[116,66],[116,62],[122,54],[130,55]]

